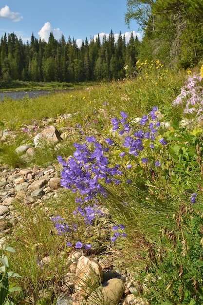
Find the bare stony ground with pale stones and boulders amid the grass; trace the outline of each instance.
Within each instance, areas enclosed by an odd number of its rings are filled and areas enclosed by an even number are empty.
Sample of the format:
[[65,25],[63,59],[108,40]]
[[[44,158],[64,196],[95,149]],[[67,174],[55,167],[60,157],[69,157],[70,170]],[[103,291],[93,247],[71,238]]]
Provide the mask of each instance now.
[[[46,125],[46,124],[44,124]],[[26,128],[31,128],[30,126]],[[34,128],[34,127],[32,127]],[[70,132],[70,130],[69,130]],[[1,133],[1,141],[7,139],[10,131]],[[35,147],[41,138],[56,143],[68,134],[68,130],[59,133],[54,125],[41,130],[34,138],[34,145],[22,145],[16,153],[23,153],[23,157],[35,153]],[[13,224],[18,220],[15,202],[29,204],[32,209],[41,206],[48,209],[44,202],[52,196],[58,196],[61,191],[60,171],[56,166],[46,168],[39,166],[29,168],[10,169],[8,165],[0,165],[0,247],[5,241],[5,234],[9,234]],[[48,211],[47,211],[48,212]],[[70,269],[64,277],[67,289],[57,300],[57,305],[132,305],[147,304],[138,294],[133,275],[127,270],[119,270],[113,264],[111,255],[100,258],[88,257],[82,250],[71,252],[69,256]],[[49,260],[49,258],[46,258]],[[97,288],[95,288],[97,286]],[[93,290],[91,287],[94,287]],[[71,288],[71,289],[68,289]],[[71,292],[70,292],[71,291]]]

